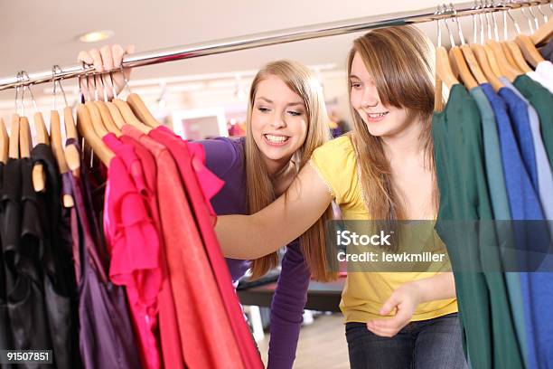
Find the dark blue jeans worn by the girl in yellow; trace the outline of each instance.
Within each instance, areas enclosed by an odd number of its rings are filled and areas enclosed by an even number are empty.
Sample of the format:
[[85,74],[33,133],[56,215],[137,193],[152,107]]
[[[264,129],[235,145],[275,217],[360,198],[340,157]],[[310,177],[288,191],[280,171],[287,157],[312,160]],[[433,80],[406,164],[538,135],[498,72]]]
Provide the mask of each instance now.
[[347,323],[351,369],[467,369],[457,314],[411,322],[391,338]]

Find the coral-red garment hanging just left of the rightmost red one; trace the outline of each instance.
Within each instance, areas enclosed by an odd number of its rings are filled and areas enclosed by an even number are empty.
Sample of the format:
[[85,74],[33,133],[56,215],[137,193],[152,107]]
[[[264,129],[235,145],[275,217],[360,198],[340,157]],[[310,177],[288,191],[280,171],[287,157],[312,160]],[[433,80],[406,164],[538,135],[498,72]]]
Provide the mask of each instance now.
[[132,126],[124,126],[123,132],[155,157],[157,191],[163,194],[158,205],[185,363],[191,368],[243,368],[173,156]]

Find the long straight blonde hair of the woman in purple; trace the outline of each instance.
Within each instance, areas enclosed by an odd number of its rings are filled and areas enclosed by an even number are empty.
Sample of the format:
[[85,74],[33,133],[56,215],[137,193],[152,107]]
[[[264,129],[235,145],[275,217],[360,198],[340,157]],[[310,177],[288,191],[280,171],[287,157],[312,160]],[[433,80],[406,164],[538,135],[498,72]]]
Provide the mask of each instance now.
[[[307,136],[304,144],[294,155],[298,171],[307,164],[314,149],[330,139],[323,90],[309,69],[299,62],[280,60],[270,62],[258,71],[249,90],[248,117],[246,120],[246,188],[249,213],[257,213],[276,199],[273,183],[267,173],[267,167],[251,134],[251,115],[258,84],[268,76],[276,76],[282,80],[305,103],[308,118]],[[332,208],[329,206],[327,212],[299,238],[300,247],[308,268],[311,270],[314,279],[321,281],[335,278],[335,273],[330,272],[327,268],[327,255],[324,247],[324,223],[330,219],[330,214],[332,214]],[[251,278],[258,279],[262,277],[268,270],[276,268],[277,263],[277,252],[252,260]]]

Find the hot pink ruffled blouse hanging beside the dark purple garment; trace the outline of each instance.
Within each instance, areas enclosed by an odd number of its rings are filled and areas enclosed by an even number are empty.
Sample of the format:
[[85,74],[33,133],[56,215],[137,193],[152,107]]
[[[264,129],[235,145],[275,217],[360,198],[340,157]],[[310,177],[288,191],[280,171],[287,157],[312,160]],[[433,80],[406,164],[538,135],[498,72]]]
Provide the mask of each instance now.
[[115,135],[109,134],[103,141],[117,154],[109,162],[104,211],[111,256],[109,277],[116,285],[126,286],[141,362],[147,368],[161,368],[155,331],[163,275],[159,235],[135,185],[145,186],[142,166],[133,147],[122,144]]

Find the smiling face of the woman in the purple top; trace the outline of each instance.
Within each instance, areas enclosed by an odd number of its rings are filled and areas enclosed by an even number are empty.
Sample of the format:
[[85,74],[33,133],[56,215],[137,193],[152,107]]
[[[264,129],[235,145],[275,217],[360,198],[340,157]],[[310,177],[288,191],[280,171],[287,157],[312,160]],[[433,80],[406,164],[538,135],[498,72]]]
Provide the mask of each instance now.
[[302,147],[308,117],[304,100],[283,80],[268,75],[258,83],[251,133],[267,168],[281,168]]

